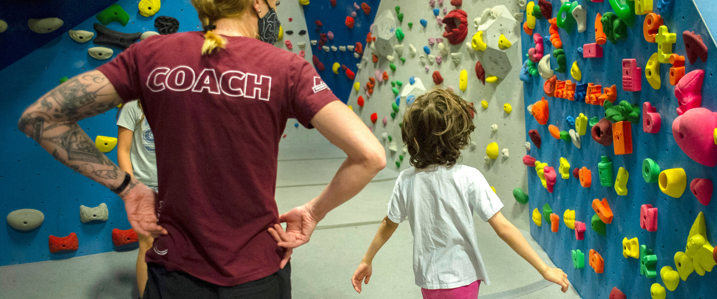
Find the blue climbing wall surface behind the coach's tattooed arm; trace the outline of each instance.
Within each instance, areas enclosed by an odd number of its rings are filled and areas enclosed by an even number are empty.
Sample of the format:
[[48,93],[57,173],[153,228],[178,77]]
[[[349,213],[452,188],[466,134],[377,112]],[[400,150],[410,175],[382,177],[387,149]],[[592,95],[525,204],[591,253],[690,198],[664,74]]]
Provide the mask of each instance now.
[[[122,0],[116,3],[130,14],[130,21],[126,27],[117,22],[110,23],[107,26],[110,29],[129,33],[156,31],[156,16],[173,16],[179,19],[180,32],[199,30],[196,10],[189,1],[163,1],[158,13],[149,17],[138,13],[137,1]],[[106,4],[109,5],[111,3]],[[4,161],[0,163],[0,194],[3,194],[0,196],[0,215],[4,217],[16,209],[38,209],[45,216],[42,226],[29,232],[13,229],[5,222],[5,232],[0,234],[0,245],[4,252],[0,255],[0,265],[57,260],[112,251],[115,250],[111,237],[112,229],[130,228],[123,201],[118,196],[54,161],[47,151],[17,130],[17,120],[22,111],[57,86],[60,77],[72,77],[109,61],[95,60],[87,54],[87,49],[98,47],[97,44],[91,41],[78,43],[67,34],[68,29],[94,32],[93,23],[98,23],[94,14],[84,22],[77,22],[75,27],[67,27],[65,22],[65,27],[55,31],[62,33],[58,34],[57,38],[0,70],[0,90],[3,93],[0,100],[0,143],[3,144],[0,147],[0,156],[4,157]],[[25,27],[27,28],[27,24]],[[121,50],[113,50],[114,58]],[[98,135],[116,137],[117,112],[117,109],[113,109],[79,123],[90,138]],[[107,153],[115,163],[116,151],[114,149]],[[107,222],[80,222],[80,204],[97,207],[103,202],[108,205],[110,211]],[[50,234],[65,237],[71,232],[75,232],[80,239],[79,250],[49,253],[47,239]]]

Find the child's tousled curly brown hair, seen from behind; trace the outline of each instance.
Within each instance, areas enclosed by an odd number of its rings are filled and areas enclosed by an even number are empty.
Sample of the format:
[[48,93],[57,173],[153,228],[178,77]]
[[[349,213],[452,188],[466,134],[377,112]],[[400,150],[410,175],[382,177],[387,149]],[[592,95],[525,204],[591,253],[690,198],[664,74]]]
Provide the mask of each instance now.
[[453,166],[460,150],[470,144],[474,113],[473,105],[452,90],[435,87],[417,97],[404,113],[401,129],[411,165],[417,169]]

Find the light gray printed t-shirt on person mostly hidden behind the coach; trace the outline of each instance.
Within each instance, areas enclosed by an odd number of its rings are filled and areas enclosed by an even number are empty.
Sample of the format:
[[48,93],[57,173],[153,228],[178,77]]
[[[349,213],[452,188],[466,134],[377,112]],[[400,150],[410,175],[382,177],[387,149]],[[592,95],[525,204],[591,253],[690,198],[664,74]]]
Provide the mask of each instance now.
[[[138,181],[145,185],[157,186],[157,158],[154,153],[154,134],[136,100],[122,106],[117,125],[128,128],[132,134],[130,161]],[[139,121],[142,123],[138,125]]]

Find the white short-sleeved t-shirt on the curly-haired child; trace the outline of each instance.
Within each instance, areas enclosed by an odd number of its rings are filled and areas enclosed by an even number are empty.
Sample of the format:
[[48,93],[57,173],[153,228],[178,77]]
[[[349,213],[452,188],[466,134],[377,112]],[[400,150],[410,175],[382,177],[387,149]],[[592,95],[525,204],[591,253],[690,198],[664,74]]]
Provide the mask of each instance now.
[[432,165],[402,171],[387,215],[396,223],[409,219],[416,285],[447,289],[475,280],[490,285],[478,251],[473,211],[488,222],[501,208],[498,195],[473,167]]

